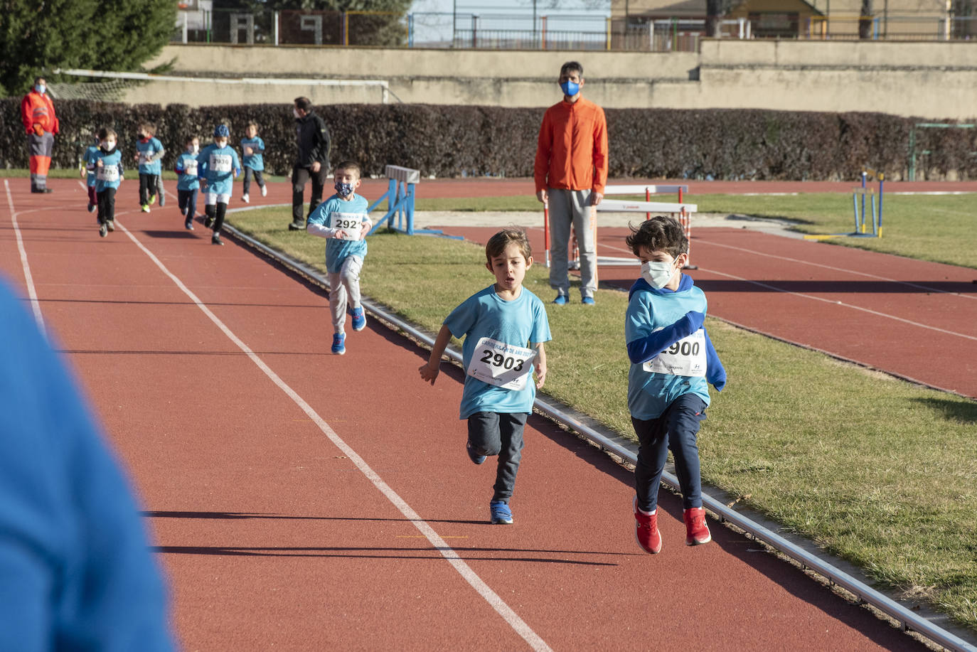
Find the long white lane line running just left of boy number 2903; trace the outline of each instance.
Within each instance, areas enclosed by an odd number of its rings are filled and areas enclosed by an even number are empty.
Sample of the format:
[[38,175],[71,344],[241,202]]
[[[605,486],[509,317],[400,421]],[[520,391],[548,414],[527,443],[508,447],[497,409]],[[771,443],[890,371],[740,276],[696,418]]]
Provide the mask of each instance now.
[[339,450],[341,450],[343,454],[349,457],[350,461],[356,464],[361,473],[373,483],[373,486],[376,487],[380,493],[387,498],[387,500],[394,503],[401,513],[404,514],[404,517],[410,521],[413,526],[417,528],[422,535],[424,535],[425,539],[427,539],[428,542],[430,542],[431,545],[434,546],[434,548],[438,550],[443,557],[445,557],[447,562],[454,567],[454,570],[457,571],[458,574],[488,602],[492,609],[494,609],[495,612],[501,616],[502,619],[513,630],[516,631],[516,633],[522,636],[526,642],[530,644],[533,650],[551,650],[549,645],[546,644],[546,641],[536,634],[535,631],[531,630],[530,626],[527,625],[527,623],[523,621],[523,619],[520,618],[519,615],[516,614],[516,612],[513,611],[513,609],[509,607],[509,605],[507,605],[495,591],[488,587],[485,581],[483,581],[482,578],[480,578],[475,571],[473,571],[472,568],[465,563],[458,553],[455,552],[454,549],[451,548],[445,542],[445,540],[442,539],[441,536],[439,536],[438,533],[436,533],[434,529],[428,525],[428,523],[422,519],[420,515],[418,515],[417,512],[415,512],[410,505],[407,504],[406,501],[390,487],[390,485],[384,482],[383,478],[381,478],[376,471],[370,468],[366,461],[363,460],[363,458],[356,451],[350,448],[350,446],[343,441],[339,435],[336,434],[329,424],[326,423],[321,416],[319,416],[319,413],[313,410],[312,406],[306,403],[306,401],[299,396],[295,390],[289,387],[274,370],[266,365],[265,362],[247,346],[247,344],[241,341],[241,339],[234,334],[231,328],[226,326],[224,322],[214,315],[214,313],[211,312],[202,301],[200,301],[200,299],[191,291],[191,289],[187,287],[187,285],[185,285],[176,275],[170,272],[166,266],[163,265],[163,263],[156,258],[156,256],[149,251],[149,249],[141,241],[139,241],[139,239],[136,239],[136,237],[133,236],[132,233],[122,226],[122,224],[117,220],[115,222],[115,226],[121,229],[122,232],[129,237],[129,239],[135,242],[136,246],[138,246],[147,256],[149,256],[149,260],[155,263],[156,267],[158,267],[164,275],[169,277],[173,283],[176,283],[177,287],[179,287],[184,294],[190,298],[196,307],[203,311],[203,314],[206,315],[215,326],[220,328],[224,334],[228,336],[228,339],[234,342],[237,348],[239,348],[248,358],[251,359],[251,362],[253,362],[258,369],[264,371],[265,375],[267,375],[269,379],[271,379],[271,381],[274,382],[278,388],[281,389],[281,391],[284,392],[288,398],[290,398],[295,405],[302,410],[302,412],[306,413],[309,418],[311,418],[313,422],[319,426],[319,430],[322,431],[322,434],[328,437],[329,441],[331,441]]

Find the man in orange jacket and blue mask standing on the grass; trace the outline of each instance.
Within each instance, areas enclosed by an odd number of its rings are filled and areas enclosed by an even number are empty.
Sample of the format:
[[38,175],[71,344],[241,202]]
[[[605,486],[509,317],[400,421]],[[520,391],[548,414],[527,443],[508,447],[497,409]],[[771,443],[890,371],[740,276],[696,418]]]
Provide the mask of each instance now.
[[580,295],[593,305],[597,289],[596,223],[591,206],[604,197],[608,181],[608,128],[604,109],[580,95],[583,66],[567,62],[560,68],[563,101],[543,114],[536,146],[533,178],[536,198],[549,208],[553,262],[550,287],[553,303],[569,301],[568,248],[570,228],[580,247]]

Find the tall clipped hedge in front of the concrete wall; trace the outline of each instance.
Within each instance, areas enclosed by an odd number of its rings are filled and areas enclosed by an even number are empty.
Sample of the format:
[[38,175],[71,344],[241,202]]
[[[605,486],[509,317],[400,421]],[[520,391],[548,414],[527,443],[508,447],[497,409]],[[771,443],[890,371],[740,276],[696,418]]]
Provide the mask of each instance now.
[[[62,133],[54,166],[73,167],[94,128],[112,126],[132,150],[137,124],[157,124],[171,167],[185,137],[203,144],[214,125],[231,127],[231,141],[249,120],[260,125],[266,167],[291,169],[295,126],[291,104],[201,107],[123,105],[82,100],[57,102]],[[424,175],[532,175],[542,109],[433,105],[330,105],[319,107],[332,135],[331,160],[353,158],[366,174],[387,164]],[[20,101],[0,100],[0,166],[27,167]],[[760,109],[608,109],[612,177],[671,179],[855,179],[863,166],[903,178],[913,118],[884,113],[819,113]],[[917,169],[929,178],[977,177],[973,130],[917,132]]]

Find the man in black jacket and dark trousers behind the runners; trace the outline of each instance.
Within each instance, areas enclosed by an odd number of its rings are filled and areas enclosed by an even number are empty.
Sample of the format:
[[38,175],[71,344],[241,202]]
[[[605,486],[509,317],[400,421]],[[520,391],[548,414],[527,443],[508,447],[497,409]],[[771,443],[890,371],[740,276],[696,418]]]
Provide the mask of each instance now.
[[304,231],[302,201],[305,185],[312,178],[312,197],[309,199],[309,215],[322,201],[322,189],[329,175],[329,130],[322,118],[312,109],[309,98],[295,98],[295,135],[298,154],[292,167],[292,222],[289,231]]

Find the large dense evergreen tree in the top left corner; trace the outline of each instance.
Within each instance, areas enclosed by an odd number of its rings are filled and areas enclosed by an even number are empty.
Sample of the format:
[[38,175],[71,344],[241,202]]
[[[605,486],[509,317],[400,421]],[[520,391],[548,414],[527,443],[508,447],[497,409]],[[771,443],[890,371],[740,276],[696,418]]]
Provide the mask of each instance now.
[[176,25],[172,0],[0,0],[0,95],[55,68],[135,70]]

